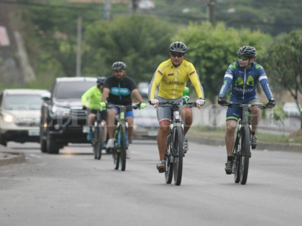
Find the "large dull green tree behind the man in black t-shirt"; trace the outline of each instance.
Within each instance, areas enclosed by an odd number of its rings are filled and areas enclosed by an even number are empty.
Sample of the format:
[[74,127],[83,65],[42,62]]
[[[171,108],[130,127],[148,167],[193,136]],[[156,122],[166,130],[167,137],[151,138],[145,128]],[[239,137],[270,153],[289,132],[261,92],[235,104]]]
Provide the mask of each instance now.
[[111,65],[124,61],[136,82],[151,81],[158,64],[168,57],[172,26],[156,17],[131,15],[99,20],[85,33],[85,73],[110,76]]

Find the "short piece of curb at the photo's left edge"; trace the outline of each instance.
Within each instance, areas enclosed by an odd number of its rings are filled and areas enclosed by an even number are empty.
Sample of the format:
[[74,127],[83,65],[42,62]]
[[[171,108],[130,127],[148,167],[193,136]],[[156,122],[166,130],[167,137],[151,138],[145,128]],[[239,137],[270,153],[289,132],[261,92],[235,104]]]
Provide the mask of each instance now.
[[25,162],[25,154],[0,145],[0,166]]

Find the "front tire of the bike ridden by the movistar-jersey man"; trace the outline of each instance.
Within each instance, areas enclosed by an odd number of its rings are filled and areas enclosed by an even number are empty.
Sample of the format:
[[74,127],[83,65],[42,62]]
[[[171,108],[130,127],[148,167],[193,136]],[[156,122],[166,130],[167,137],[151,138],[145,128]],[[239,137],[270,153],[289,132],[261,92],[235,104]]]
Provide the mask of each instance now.
[[240,184],[246,184],[249,171],[249,155],[251,152],[251,135],[250,128],[245,126],[241,135],[241,155],[239,161]]

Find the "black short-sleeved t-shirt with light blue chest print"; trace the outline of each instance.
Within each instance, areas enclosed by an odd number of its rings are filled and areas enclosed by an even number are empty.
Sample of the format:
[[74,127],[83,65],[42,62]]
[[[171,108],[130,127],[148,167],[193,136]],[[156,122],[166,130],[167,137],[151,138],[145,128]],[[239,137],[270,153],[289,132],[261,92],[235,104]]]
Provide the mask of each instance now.
[[106,79],[104,88],[108,88],[108,103],[120,105],[132,105],[131,92],[136,89],[133,79],[124,76],[122,80],[117,80],[114,76]]

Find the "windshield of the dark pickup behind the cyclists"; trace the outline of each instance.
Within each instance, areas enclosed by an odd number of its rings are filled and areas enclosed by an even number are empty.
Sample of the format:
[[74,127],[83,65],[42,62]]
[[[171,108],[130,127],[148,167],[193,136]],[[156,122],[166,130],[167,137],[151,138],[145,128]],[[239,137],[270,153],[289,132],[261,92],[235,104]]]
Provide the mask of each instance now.
[[94,81],[70,81],[59,82],[54,90],[54,97],[58,99],[79,99],[92,86]]

